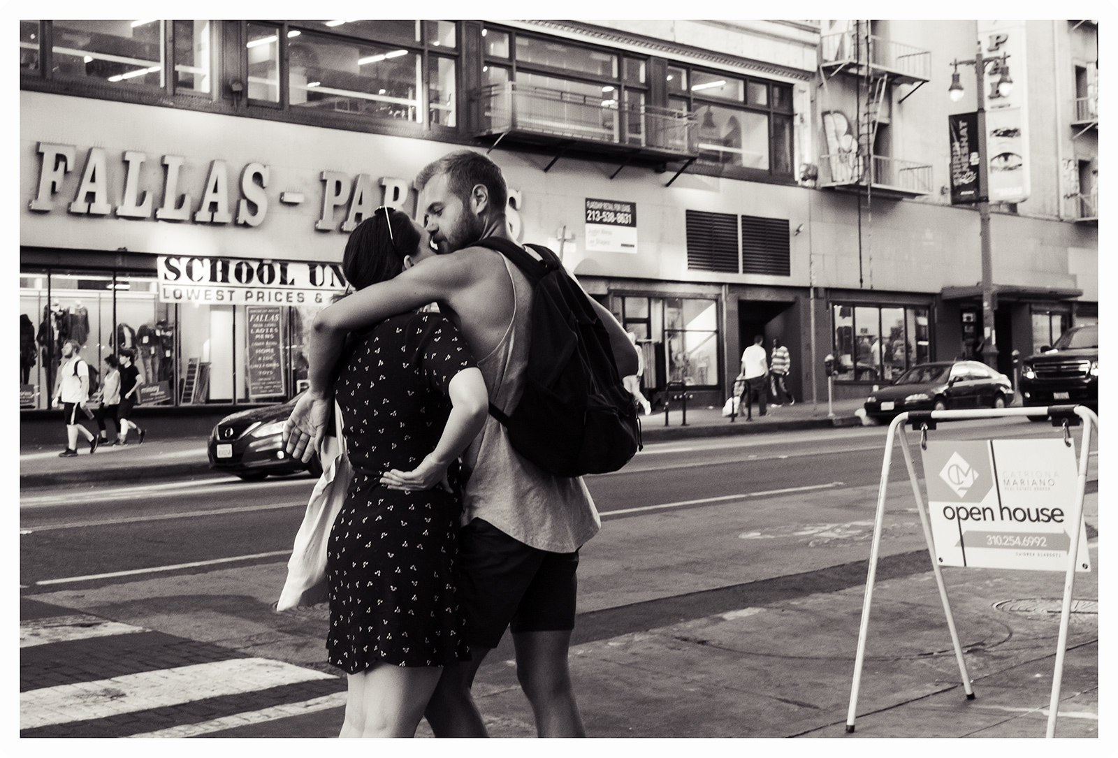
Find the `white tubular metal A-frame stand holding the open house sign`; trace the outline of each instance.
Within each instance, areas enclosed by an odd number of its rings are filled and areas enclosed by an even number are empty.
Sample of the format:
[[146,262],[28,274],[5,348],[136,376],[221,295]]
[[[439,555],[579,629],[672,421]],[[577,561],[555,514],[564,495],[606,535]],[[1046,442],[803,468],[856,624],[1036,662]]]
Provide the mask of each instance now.
[[[1072,512],[1069,513],[1068,523],[1071,527],[1071,544],[1068,549],[1068,566],[1064,572],[1063,604],[1060,612],[1060,635],[1055,651],[1055,671],[1052,675],[1052,694],[1049,701],[1049,718],[1045,737],[1055,737],[1055,721],[1060,705],[1060,686],[1063,680],[1063,660],[1068,647],[1068,622],[1071,617],[1072,591],[1076,586],[1076,565],[1079,555],[1079,539],[1082,531],[1083,520],[1083,494],[1087,489],[1087,467],[1091,447],[1091,429],[1099,428],[1099,417],[1090,408],[1084,406],[1049,406],[1031,408],[996,408],[996,409],[973,409],[973,410],[932,410],[920,414],[908,411],[899,414],[889,425],[889,434],[885,438],[885,454],[881,464],[881,484],[878,489],[878,508],[873,521],[873,542],[870,547],[870,569],[865,579],[865,596],[862,601],[862,620],[858,633],[858,654],[854,657],[854,676],[851,682],[850,709],[846,712],[846,732],[854,731],[854,719],[858,711],[858,695],[862,683],[862,665],[865,661],[865,641],[870,628],[870,607],[873,603],[873,585],[878,571],[878,558],[881,552],[882,523],[885,514],[885,493],[889,484],[889,468],[892,463],[893,443],[900,433],[901,454],[904,457],[904,466],[908,470],[909,482],[912,485],[912,496],[916,499],[917,512],[920,514],[920,525],[923,528],[923,539],[928,546],[928,556],[931,559],[931,569],[936,575],[936,586],[939,588],[939,597],[944,604],[944,614],[947,617],[947,628],[951,634],[951,644],[955,647],[955,658],[959,664],[959,675],[963,679],[963,690],[967,694],[967,700],[974,700],[975,693],[970,688],[970,678],[967,674],[966,661],[963,657],[963,646],[959,644],[959,635],[955,628],[955,616],[951,614],[951,604],[947,597],[947,587],[944,584],[944,575],[939,562],[936,560],[936,546],[931,533],[931,523],[920,492],[920,482],[917,477],[916,467],[912,465],[912,451],[909,447],[908,436],[904,425],[920,419],[928,421],[956,421],[975,418],[1005,418],[1012,416],[1040,416],[1043,413],[1050,418],[1063,418],[1064,424],[1072,416],[1078,416],[1083,426],[1083,435],[1080,439],[1079,451],[1079,473],[1076,481],[1076,500],[1072,503]],[[913,424],[915,426],[915,424]],[[935,424],[930,427],[935,428]],[[923,434],[923,432],[921,432]],[[1065,437],[1070,444],[1070,437]]]

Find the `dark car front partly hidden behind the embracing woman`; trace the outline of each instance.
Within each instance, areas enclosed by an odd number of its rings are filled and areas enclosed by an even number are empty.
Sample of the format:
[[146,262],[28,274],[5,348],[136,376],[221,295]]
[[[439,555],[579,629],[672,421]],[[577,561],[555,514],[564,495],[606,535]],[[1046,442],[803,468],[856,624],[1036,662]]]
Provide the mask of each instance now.
[[248,482],[258,482],[268,474],[301,471],[320,476],[322,465],[318,455],[304,464],[283,449],[283,424],[297,400],[299,396],[282,405],[243,410],[218,421],[207,444],[210,468],[236,474]]

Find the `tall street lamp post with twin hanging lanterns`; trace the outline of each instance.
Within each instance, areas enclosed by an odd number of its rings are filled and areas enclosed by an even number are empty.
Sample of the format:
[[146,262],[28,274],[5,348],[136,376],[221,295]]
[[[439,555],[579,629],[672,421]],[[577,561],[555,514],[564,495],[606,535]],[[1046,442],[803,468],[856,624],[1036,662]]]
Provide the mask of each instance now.
[[1008,54],[1002,54],[992,58],[984,58],[982,54],[982,42],[977,44],[974,59],[953,60],[955,73],[951,74],[951,86],[947,92],[951,102],[963,100],[963,84],[959,83],[959,66],[975,67],[975,85],[977,86],[978,107],[978,235],[982,238],[982,329],[983,329],[983,362],[992,369],[997,369],[997,344],[994,341],[994,263],[991,257],[989,246],[989,198],[988,198],[988,165],[986,161],[986,91],[985,74],[986,64],[993,63],[994,68],[991,74],[1001,73],[1001,77],[991,88],[992,97],[1005,97],[1013,88],[1013,79],[1010,78],[1010,67],[1006,65]]

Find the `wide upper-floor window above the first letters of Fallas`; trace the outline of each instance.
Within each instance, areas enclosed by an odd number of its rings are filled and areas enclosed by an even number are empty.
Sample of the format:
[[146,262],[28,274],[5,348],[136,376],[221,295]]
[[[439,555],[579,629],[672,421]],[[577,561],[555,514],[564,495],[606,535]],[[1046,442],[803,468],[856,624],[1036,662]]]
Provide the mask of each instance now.
[[54,21],[55,74],[163,86],[163,21]]

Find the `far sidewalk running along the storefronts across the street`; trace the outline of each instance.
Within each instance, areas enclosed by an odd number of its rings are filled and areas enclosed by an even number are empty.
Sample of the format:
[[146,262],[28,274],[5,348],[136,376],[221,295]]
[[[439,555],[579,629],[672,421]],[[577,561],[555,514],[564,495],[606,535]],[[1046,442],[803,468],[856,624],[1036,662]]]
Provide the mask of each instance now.
[[[742,416],[731,421],[729,417],[722,416],[721,408],[689,407],[686,426],[682,426],[681,409],[673,407],[669,411],[669,426],[664,426],[663,411],[642,416],[642,436],[648,444],[695,437],[858,426],[861,420],[854,411],[862,407],[862,400],[835,401],[833,418],[827,416],[825,401],[817,407],[811,402],[797,402],[794,406],[779,408],[769,407],[768,415],[760,417],[754,408],[752,421],[746,421]],[[88,446],[79,443],[76,458],[59,458],[58,453],[65,447],[64,435],[65,429],[59,424],[56,446],[20,445],[20,489],[89,482],[126,484],[138,481],[227,475],[209,467],[206,457],[207,438],[202,436],[161,439],[159,429],[149,427],[143,445],[130,443],[127,447],[102,447],[91,456]]]

